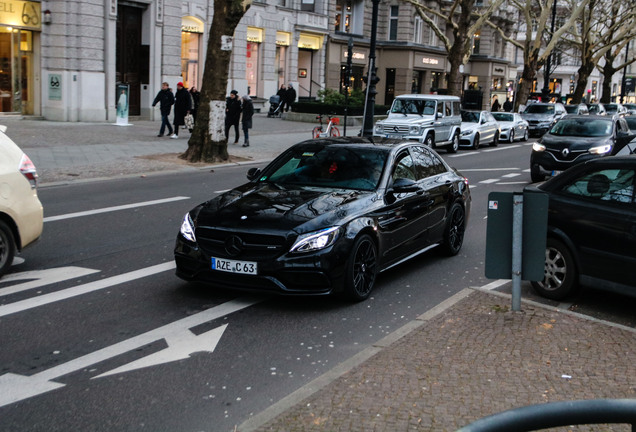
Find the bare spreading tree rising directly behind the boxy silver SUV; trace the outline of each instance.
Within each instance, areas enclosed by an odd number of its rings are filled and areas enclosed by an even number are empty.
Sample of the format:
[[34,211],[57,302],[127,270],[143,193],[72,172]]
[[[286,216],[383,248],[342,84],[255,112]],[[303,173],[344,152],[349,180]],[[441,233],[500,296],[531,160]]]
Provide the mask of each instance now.
[[[477,6],[476,0],[434,0],[434,6],[427,6],[424,0],[402,1],[415,6],[417,14],[444,45],[450,64],[448,93],[461,96],[461,66],[468,63],[472,54],[473,35],[499,9],[504,0],[491,0],[486,7]],[[447,36],[447,32],[452,34],[452,38]]]

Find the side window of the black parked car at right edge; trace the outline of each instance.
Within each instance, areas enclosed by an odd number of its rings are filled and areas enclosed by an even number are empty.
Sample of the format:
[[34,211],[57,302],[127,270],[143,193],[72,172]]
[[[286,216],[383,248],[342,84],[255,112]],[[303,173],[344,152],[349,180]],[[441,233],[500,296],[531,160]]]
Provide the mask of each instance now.
[[632,203],[634,171],[606,169],[587,173],[563,188],[563,192],[602,201]]

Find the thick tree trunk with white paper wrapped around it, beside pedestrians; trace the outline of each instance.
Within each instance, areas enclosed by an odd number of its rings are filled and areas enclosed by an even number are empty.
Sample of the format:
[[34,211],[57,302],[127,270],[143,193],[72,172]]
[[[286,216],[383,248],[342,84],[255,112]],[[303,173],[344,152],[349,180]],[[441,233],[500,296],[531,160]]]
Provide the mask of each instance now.
[[232,36],[251,4],[250,0],[214,0],[197,119],[180,158],[188,162],[227,160],[225,93],[232,55]]

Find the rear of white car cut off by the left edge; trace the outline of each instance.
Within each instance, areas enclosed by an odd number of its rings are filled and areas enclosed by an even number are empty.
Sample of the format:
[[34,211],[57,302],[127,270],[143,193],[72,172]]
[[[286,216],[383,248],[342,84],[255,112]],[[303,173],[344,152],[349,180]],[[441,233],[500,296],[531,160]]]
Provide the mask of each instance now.
[[0,277],[21,251],[42,234],[43,211],[31,159],[0,126]]

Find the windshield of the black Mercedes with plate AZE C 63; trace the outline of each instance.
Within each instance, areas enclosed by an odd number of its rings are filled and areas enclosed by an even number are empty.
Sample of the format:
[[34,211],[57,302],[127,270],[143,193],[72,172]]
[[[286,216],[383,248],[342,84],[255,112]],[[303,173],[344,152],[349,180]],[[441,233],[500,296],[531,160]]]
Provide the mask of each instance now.
[[387,157],[384,147],[296,146],[283,153],[259,181],[371,191],[378,186]]

